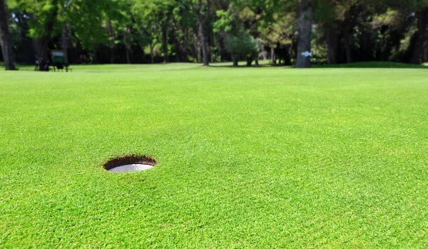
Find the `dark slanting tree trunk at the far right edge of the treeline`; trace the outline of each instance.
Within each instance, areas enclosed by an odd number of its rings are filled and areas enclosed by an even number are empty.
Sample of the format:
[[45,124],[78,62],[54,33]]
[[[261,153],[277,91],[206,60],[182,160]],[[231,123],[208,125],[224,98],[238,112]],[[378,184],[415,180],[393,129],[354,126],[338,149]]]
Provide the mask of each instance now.
[[410,58],[410,63],[421,63],[422,52],[424,51],[424,44],[427,39],[427,26],[428,26],[428,8],[420,11],[417,14],[417,37],[416,45]]

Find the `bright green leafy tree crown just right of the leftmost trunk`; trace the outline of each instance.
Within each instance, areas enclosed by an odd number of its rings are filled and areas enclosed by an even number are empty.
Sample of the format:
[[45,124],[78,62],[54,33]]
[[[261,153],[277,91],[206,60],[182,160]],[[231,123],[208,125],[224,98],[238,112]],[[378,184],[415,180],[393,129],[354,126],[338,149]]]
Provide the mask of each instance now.
[[115,1],[11,0],[29,20],[29,36],[36,42],[35,52],[49,60],[52,38],[63,33],[63,24],[70,24],[73,35],[87,49],[106,41],[103,17],[117,9]]

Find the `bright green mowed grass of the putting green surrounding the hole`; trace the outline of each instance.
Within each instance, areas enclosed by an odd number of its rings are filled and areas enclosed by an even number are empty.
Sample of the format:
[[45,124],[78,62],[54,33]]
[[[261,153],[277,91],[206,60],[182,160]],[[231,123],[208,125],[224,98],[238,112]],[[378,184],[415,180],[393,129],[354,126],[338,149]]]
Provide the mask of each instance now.
[[426,245],[428,70],[0,71],[0,248]]

